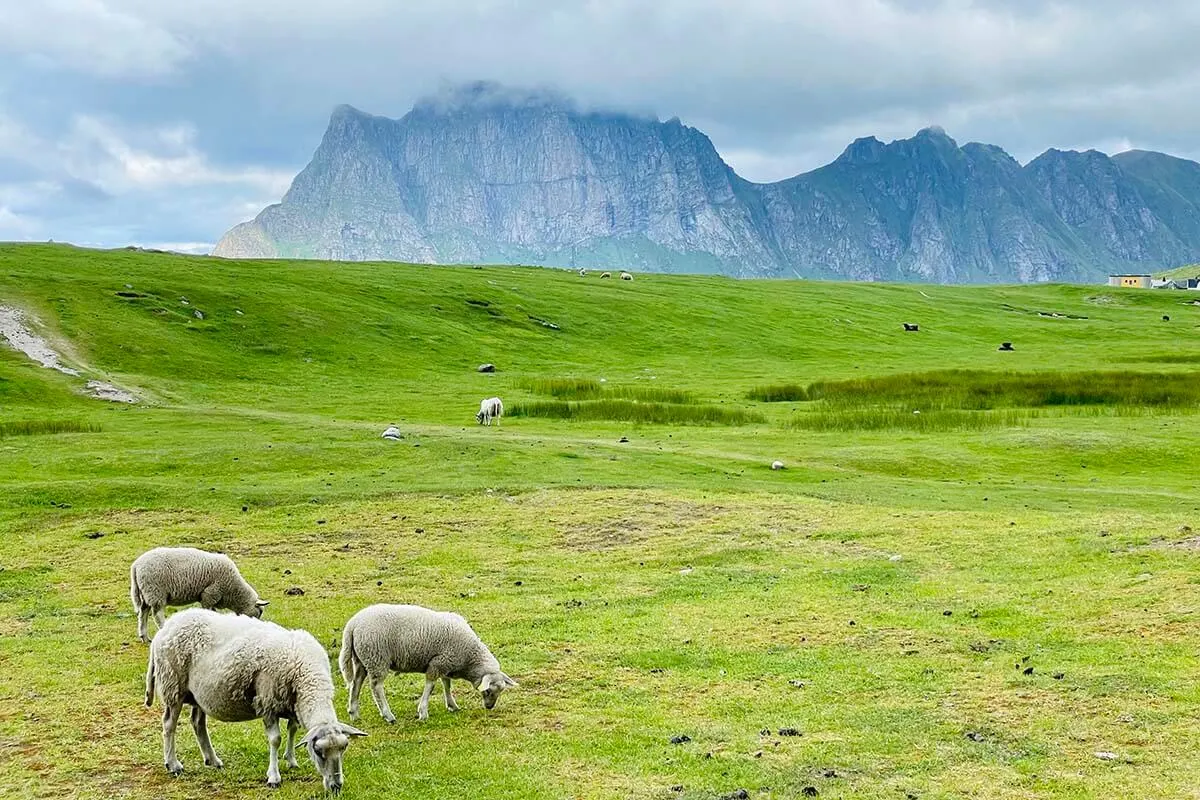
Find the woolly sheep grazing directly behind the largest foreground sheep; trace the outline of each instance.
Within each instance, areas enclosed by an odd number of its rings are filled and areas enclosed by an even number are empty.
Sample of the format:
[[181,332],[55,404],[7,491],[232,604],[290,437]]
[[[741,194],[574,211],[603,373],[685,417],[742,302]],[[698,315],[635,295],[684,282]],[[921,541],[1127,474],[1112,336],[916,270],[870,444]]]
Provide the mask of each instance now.
[[130,567],[130,599],[138,614],[142,642],[150,640],[149,616],[152,614],[161,628],[167,606],[200,603],[257,618],[269,603],[258,599],[228,555],[194,547],[156,547],[134,559]]

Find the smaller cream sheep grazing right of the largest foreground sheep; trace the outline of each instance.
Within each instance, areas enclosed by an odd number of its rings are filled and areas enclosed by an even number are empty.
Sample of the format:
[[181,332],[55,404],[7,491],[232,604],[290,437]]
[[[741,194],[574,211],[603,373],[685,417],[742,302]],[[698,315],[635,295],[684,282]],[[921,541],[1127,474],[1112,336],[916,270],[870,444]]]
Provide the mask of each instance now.
[[416,718],[430,716],[430,694],[442,681],[446,710],[457,711],[450,693],[450,679],[461,678],[484,696],[484,708],[496,708],[500,692],[517,685],[500,672],[500,662],[458,614],[436,612],[420,606],[377,604],[350,618],[342,634],[338,657],[342,678],[349,690],[348,712],[359,718],[359,693],[371,678],[371,694],[379,714],[389,723],[396,716],[388,706],[383,681],[389,672],[425,673],[425,691],[416,703]]

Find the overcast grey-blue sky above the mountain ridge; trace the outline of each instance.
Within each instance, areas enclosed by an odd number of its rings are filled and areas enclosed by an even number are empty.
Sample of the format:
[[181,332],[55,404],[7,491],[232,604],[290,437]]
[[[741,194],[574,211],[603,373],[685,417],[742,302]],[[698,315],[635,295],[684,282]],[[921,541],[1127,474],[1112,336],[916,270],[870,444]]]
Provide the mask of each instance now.
[[1195,0],[0,0],[0,240],[204,249],[334,106],[479,79],[679,116],[758,181],[931,124],[1196,157],[1198,42]]

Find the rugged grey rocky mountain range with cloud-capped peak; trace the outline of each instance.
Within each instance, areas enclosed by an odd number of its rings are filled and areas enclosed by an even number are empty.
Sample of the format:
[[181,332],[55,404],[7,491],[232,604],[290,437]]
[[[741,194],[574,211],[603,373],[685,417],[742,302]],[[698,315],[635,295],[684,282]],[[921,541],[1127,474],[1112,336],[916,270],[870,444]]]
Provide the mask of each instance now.
[[283,200],[217,255],[930,282],[1094,281],[1200,260],[1200,164],[941,128],[754,184],[678,119],[472,84],[400,120],[334,110]]

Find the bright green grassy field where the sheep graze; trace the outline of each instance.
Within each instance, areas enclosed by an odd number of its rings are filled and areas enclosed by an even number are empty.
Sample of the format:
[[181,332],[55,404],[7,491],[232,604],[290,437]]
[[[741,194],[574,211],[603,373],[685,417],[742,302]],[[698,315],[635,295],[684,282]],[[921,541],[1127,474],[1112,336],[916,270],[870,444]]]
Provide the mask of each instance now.
[[162,768],[128,564],[193,545],[331,656],[419,602],[521,681],[392,678],[349,799],[1200,796],[1183,294],[0,246],[84,373],[0,349],[0,795],[320,794],[258,723]]

